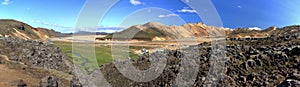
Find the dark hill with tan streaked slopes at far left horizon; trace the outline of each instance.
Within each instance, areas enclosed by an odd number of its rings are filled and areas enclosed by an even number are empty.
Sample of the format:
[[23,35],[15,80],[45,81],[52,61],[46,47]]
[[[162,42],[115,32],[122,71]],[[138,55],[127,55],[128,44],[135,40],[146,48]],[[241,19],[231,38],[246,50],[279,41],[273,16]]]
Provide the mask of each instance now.
[[10,20],[0,19],[0,36],[15,37],[21,39],[41,39],[60,36],[61,33],[46,28],[34,28],[26,23]]

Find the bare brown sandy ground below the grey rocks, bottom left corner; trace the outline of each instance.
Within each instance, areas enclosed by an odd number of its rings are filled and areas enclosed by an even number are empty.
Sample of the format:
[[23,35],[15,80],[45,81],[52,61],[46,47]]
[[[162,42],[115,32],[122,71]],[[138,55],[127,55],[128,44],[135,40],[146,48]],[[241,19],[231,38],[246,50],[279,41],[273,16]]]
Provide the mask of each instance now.
[[64,85],[69,85],[71,75],[60,71],[43,69],[40,67],[27,66],[23,63],[16,63],[9,60],[5,55],[0,55],[0,87],[17,87],[20,80],[26,83],[27,87],[39,87],[40,81],[46,76],[58,76]]

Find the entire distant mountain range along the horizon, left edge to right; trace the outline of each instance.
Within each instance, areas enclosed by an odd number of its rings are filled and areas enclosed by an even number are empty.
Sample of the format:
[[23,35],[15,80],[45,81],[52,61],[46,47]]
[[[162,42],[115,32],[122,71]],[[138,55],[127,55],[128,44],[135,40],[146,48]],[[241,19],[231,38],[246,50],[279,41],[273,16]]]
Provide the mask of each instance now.
[[[158,22],[148,22],[143,25],[134,25],[123,31],[116,33],[106,32],[87,32],[78,31],[75,33],[60,33],[53,29],[46,28],[34,28],[26,23],[0,19],[0,37],[16,37],[22,39],[42,39],[61,36],[76,35],[107,35],[104,38],[98,38],[98,40],[112,39],[113,35],[115,39],[126,39],[127,36],[133,35],[137,32],[132,39],[147,40],[147,41],[164,41],[174,40],[176,38],[191,38],[191,37],[227,37],[227,38],[261,38],[270,36],[281,36],[286,34],[298,34],[300,35],[300,26],[286,26],[283,28],[269,27],[263,30],[256,30],[251,28],[220,28],[214,26],[207,26],[203,23],[188,23],[182,26],[164,25]],[[225,34],[224,34],[225,33]],[[118,37],[119,36],[119,37]]]

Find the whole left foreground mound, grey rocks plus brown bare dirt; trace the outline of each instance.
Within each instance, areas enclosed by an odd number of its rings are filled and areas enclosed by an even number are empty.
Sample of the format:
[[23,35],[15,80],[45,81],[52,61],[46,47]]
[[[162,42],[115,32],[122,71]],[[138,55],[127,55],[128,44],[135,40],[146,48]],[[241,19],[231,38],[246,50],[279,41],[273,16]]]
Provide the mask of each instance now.
[[53,44],[0,38],[0,48],[0,86],[80,86],[69,58]]

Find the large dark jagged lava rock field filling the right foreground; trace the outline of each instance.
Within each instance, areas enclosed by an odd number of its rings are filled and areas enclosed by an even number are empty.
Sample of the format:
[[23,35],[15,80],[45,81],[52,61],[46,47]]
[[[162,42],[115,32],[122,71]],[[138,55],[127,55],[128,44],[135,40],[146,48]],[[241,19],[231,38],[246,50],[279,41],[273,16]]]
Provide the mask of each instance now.
[[[197,53],[188,53],[190,50]],[[198,64],[199,72],[190,86],[266,86],[266,87],[299,87],[300,86],[300,40],[299,38],[265,38],[265,39],[232,39],[227,41],[226,63],[223,67],[223,79],[217,80],[219,84],[206,83],[208,73],[212,66],[211,43],[202,43],[185,49],[166,50],[167,65],[163,73],[155,80],[149,82],[135,82],[124,77],[114,64],[104,65],[101,69],[105,78],[114,87],[153,86],[171,87],[179,75],[180,63],[186,57],[197,57],[200,61],[190,62],[192,66]],[[153,53],[133,59],[132,63],[140,70],[147,70],[150,66],[149,58]],[[186,71],[189,72],[189,71]],[[181,77],[179,77],[181,78]],[[182,80],[187,82],[188,79]]]

